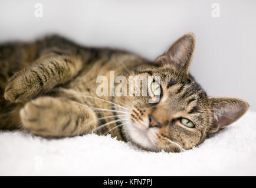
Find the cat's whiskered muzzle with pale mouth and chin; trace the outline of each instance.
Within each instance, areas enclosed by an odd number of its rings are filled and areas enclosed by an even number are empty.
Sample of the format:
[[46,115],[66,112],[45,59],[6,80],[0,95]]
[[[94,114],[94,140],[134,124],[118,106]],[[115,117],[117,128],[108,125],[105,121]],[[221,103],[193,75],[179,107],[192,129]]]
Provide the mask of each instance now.
[[127,141],[152,152],[181,152],[182,146],[175,143],[160,132],[162,127],[152,109],[132,108],[126,111],[126,115],[119,115],[122,120],[122,134]]

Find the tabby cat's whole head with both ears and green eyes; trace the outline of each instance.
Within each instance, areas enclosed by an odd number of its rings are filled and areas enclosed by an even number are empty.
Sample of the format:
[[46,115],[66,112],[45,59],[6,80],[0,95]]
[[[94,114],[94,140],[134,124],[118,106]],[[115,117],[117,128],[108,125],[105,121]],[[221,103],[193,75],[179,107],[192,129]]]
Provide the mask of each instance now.
[[127,140],[146,150],[180,152],[198,146],[207,135],[235,122],[247,111],[244,100],[210,98],[195,82],[189,74],[194,48],[195,37],[185,34],[155,62],[130,72],[132,76],[153,76],[153,80],[147,81],[151,88],[148,96],[119,98],[130,107],[122,127]]

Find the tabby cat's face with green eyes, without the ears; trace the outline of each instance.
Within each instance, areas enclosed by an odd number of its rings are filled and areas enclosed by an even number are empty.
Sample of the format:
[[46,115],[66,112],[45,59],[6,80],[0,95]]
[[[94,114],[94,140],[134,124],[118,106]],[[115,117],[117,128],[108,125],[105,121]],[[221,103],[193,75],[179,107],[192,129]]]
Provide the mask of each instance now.
[[[147,69],[146,69],[147,70]],[[149,76],[145,70],[139,76]],[[132,142],[154,151],[179,152],[201,143],[206,136],[209,116],[208,98],[205,92],[189,78],[178,75],[171,68],[159,68],[150,75],[160,76],[159,96],[153,91],[147,97],[127,99],[132,107],[129,123],[123,126],[124,135]],[[154,85],[155,81],[150,85]],[[158,85],[158,82],[157,82]],[[154,89],[154,88],[152,88]],[[159,102],[149,103],[159,97]]]

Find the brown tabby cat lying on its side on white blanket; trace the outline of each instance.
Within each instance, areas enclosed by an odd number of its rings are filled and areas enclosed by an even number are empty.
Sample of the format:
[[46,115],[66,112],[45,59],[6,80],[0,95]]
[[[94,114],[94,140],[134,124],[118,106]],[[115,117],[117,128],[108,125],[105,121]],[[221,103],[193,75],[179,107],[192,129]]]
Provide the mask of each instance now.
[[[110,133],[152,152],[191,149],[248,109],[244,100],[206,95],[189,73],[194,49],[192,33],[181,36],[156,61],[83,47],[58,35],[4,43],[0,129],[25,129],[42,137]],[[97,95],[98,76],[110,79],[110,71],[124,78],[152,76],[149,95]]]

